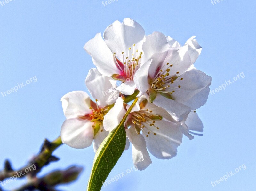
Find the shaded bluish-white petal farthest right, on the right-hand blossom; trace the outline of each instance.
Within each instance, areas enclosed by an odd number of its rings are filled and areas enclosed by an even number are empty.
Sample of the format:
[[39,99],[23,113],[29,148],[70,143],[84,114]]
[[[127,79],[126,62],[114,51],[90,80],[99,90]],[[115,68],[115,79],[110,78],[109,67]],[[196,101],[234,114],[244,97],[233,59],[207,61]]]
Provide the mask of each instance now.
[[[179,76],[166,90],[170,92],[174,90],[175,92],[172,93],[172,98],[179,103],[185,103],[205,87],[209,87],[211,85],[211,81],[212,77],[207,76],[204,72],[199,70],[190,70]],[[203,101],[205,103],[208,98],[208,94],[200,94],[200,96],[204,97],[198,96],[198,98],[201,99],[198,99],[198,102],[201,103]],[[194,99],[194,101],[196,100]]]

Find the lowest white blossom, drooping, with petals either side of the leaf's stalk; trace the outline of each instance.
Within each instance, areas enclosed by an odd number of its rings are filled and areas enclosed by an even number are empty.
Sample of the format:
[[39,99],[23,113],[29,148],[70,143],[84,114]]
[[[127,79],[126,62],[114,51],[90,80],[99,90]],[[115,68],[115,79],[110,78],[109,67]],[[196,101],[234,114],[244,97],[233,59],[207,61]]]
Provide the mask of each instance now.
[[[123,100],[118,98],[115,106],[104,117],[104,129],[112,131],[128,107],[124,108]],[[113,115],[116,116],[114,119]],[[132,143],[134,165],[139,170],[147,168],[152,163],[148,151],[159,159],[176,156],[183,135],[179,126],[180,123],[163,108],[149,103],[147,99],[140,99],[140,104],[138,102],[132,108],[125,123],[127,137]]]

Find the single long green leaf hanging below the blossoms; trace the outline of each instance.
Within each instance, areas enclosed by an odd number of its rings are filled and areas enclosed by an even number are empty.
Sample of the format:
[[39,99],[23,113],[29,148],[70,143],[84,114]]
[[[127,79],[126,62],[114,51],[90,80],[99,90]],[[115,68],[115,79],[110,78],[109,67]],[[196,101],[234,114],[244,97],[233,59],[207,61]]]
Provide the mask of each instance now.
[[[109,173],[121,157],[126,143],[124,124],[119,124],[96,152],[87,191],[100,191]],[[103,183],[102,183],[103,182]]]

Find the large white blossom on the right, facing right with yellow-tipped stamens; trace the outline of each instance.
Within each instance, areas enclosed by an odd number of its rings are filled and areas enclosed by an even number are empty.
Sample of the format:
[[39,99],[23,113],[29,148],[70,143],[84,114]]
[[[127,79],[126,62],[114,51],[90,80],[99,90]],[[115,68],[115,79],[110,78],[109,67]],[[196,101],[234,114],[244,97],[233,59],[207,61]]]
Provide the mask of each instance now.
[[145,64],[134,82],[141,95],[177,121],[184,122],[191,109],[198,109],[208,98],[212,77],[193,67],[201,49],[194,37],[180,46],[160,32],[147,36],[143,44]]

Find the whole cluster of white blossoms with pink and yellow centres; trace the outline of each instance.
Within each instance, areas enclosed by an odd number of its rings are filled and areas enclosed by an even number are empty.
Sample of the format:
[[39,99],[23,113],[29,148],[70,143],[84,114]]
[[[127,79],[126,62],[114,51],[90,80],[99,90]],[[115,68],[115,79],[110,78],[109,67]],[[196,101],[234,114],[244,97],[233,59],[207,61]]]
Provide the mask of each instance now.
[[131,106],[124,98],[137,96],[124,124],[134,165],[147,168],[152,163],[148,151],[159,159],[176,156],[183,135],[193,139],[192,134],[201,135],[195,131],[203,131],[196,109],[206,103],[212,77],[193,65],[202,48],[195,37],[181,46],[160,32],[146,36],[130,18],[108,26],[103,38],[97,33],[84,46],[97,68],[85,80],[95,102],[83,91],[61,99],[67,118],[63,143],[86,148],[93,142],[96,152]]

